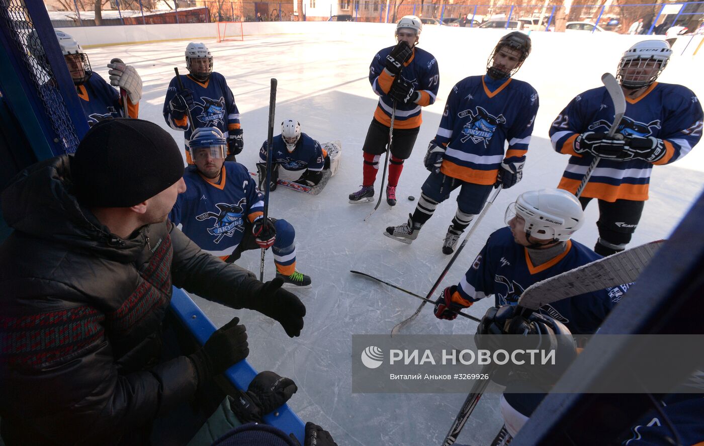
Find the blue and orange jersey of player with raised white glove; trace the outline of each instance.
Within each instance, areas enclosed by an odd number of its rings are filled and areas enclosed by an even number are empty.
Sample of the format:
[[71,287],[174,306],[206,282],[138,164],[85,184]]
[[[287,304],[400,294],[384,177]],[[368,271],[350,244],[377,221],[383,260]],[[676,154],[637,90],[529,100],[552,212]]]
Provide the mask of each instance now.
[[[120,93],[108,82],[105,82],[105,79],[100,77],[98,73],[92,72],[86,82],[76,86],[76,92],[81,100],[88,125],[92,126],[96,122],[113,117],[124,117]],[[137,117],[139,103],[133,104],[127,98],[127,113],[130,114],[130,117]]]

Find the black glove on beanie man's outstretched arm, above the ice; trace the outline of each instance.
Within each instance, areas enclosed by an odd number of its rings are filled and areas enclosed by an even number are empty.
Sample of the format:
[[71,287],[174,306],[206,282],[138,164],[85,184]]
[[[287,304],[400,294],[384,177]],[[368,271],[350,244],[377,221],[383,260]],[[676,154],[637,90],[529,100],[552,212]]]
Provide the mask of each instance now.
[[239,305],[258,311],[275,321],[279,321],[289,337],[301,335],[303,316],[306,316],[306,305],[294,293],[281,288],[284,279],[277,277],[267,283],[253,280]]

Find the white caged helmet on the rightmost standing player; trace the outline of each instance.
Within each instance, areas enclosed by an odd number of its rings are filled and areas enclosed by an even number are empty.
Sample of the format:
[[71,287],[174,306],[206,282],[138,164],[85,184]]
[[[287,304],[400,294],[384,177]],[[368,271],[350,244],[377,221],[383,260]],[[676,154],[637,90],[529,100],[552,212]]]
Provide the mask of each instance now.
[[627,89],[641,89],[658,79],[672,56],[664,40],[643,40],[627,49],[618,66],[616,79]]

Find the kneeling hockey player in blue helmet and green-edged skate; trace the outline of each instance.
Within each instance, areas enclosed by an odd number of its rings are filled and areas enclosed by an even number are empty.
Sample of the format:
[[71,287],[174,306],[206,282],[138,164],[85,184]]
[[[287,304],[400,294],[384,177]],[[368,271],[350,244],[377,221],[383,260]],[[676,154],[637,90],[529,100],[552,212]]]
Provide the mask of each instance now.
[[284,286],[310,287],[310,277],[296,271],[294,227],[284,219],[264,220],[263,195],[246,167],[225,163],[225,136],[217,127],[196,129],[189,139],[194,165],[184,173],[187,190],[169,214],[174,224],[201,249],[225,262],[245,250],[272,248],[276,276]]

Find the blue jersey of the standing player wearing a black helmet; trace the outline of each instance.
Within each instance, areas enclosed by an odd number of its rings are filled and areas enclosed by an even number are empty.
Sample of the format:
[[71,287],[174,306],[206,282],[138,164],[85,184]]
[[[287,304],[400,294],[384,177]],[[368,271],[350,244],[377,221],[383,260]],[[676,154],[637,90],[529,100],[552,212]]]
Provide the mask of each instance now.
[[527,82],[465,77],[450,91],[435,136],[447,148],[440,171],[468,183],[494,184],[504,158],[528,151],[538,106],[538,93]]

